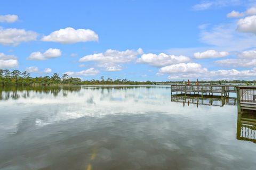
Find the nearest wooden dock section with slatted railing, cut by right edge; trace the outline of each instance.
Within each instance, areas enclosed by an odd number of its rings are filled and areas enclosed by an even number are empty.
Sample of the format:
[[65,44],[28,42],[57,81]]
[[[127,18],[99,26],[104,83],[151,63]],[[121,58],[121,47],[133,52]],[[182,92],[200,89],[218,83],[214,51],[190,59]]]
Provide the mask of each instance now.
[[256,86],[237,87],[238,112],[244,110],[256,111]]

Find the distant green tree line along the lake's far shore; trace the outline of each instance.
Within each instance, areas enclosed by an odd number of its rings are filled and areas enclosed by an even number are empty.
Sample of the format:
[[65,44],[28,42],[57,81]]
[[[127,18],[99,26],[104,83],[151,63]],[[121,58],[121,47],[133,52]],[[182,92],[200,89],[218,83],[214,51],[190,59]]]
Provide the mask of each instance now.
[[[69,77],[68,74],[62,74],[60,77],[58,73],[53,73],[51,77],[30,77],[30,73],[27,71],[20,72],[19,70],[2,70],[0,69],[0,86],[58,86],[58,85],[99,85],[99,84],[129,84],[129,85],[154,85],[154,84],[182,84],[183,81],[131,81],[127,79],[116,79],[111,78],[105,79],[103,76],[100,80],[84,80],[80,78]],[[187,82],[185,82],[187,83]],[[196,81],[190,81],[190,84],[195,84]],[[199,84],[226,84],[226,83],[242,83],[242,84],[255,84],[256,81],[247,80],[218,80],[218,81],[199,81]]]

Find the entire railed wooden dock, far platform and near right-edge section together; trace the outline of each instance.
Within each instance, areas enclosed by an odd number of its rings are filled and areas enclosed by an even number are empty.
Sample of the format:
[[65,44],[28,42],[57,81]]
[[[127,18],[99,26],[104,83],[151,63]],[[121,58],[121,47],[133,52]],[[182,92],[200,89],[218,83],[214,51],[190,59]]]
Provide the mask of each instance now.
[[[229,93],[236,93],[237,100],[229,98]],[[236,85],[172,85],[171,100],[187,101],[194,100],[199,104],[223,106],[229,98],[236,105],[238,112],[245,110],[256,111],[256,86]],[[233,102],[234,101],[234,102]]]

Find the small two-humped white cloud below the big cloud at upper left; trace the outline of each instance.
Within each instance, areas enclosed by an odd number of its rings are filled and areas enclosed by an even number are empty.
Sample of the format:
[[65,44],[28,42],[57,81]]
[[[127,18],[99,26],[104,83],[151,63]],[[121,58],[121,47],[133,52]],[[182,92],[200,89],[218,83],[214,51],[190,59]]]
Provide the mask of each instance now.
[[29,55],[27,60],[47,60],[61,56],[61,50],[57,48],[49,48],[44,53],[33,52]]

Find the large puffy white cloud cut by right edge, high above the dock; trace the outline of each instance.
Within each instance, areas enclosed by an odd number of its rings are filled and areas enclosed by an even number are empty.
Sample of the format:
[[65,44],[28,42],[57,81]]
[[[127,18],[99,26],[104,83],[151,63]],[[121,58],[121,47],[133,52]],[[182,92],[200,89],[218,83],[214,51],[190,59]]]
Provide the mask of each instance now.
[[237,30],[256,34],[256,15],[240,19],[237,22]]

